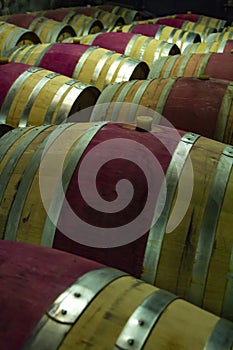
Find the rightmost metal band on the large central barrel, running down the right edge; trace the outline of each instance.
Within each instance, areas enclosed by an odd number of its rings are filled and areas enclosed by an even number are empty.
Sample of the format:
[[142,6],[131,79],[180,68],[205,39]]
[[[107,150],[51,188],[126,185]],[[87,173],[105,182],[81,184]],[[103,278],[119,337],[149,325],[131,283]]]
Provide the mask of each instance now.
[[202,218],[188,298],[202,306],[219,217],[233,166],[233,146],[226,146],[218,161]]

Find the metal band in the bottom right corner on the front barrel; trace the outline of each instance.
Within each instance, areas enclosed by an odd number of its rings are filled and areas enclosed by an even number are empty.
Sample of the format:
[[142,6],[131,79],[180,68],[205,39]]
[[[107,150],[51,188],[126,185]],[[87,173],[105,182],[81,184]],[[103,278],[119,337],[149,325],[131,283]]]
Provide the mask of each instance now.
[[233,346],[233,323],[220,318],[203,350],[231,350]]

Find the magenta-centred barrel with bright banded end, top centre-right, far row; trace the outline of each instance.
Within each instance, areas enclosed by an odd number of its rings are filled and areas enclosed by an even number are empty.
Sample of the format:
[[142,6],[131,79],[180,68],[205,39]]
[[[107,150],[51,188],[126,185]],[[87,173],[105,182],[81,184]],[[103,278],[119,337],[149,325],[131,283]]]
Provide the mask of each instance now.
[[131,32],[150,36],[157,40],[165,40],[169,43],[176,44],[181,51],[183,51],[186,46],[201,41],[201,37],[197,33],[187,32],[160,24],[131,24],[110,28],[109,31]]

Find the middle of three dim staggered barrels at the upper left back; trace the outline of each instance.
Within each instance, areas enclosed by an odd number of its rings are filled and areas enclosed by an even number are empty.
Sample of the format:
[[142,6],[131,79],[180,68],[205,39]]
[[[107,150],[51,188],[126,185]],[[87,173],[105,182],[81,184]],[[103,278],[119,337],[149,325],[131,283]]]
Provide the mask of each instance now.
[[44,11],[43,16],[72,26],[76,35],[80,36],[97,33],[104,28],[100,20],[82,14],[78,15],[76,11],[71,11],[69,8],[47,10]]

